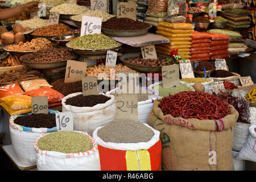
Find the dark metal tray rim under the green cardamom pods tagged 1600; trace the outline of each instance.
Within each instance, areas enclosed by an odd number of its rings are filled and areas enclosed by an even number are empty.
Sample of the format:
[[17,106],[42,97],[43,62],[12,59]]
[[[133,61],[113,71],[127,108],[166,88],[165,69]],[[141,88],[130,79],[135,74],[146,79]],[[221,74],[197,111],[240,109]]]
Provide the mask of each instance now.
[[76,49],[69,46],[69,42],[66,44],[66,47],[68,47],[71,52],[76,53],[77,55],[80,55],[80,56],[106,55],[107,51],[118,51],[118,49],[121,46],[117,46],[113,48],[105,48],[105,49]]

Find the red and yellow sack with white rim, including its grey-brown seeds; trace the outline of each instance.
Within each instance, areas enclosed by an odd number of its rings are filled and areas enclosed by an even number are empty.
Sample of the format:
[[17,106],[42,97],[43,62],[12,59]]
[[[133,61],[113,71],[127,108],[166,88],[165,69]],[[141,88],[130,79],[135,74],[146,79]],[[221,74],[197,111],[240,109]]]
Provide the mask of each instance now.
[[160,132],[146,123],[119,119],[98,127],[93,138],[98,143],[102,171],[160,171]]

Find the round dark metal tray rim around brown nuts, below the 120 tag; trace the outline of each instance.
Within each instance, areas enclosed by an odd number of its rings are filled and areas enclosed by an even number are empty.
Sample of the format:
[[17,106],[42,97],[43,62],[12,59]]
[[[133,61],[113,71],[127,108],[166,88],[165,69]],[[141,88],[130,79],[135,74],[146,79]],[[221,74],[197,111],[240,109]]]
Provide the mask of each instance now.
[[[163,55],[161,53],[157,54],[158,56],[166,56],[166,57],[171,57],[168,55]],[[162,67],[148,67],[148,66],[142,66],[142,65],[134,65],[130,63],[126,63],[125,59],[128,57],[139,57],[141,56],[141,52],[134,52],[134,53],[123,53],[122,56],[119,57],[119,59],[122,61],[123,65],[126,65],[128,68],[134,69],[135,71],[138,72],[143,72],[143,73],[158,73],[162,72]]]

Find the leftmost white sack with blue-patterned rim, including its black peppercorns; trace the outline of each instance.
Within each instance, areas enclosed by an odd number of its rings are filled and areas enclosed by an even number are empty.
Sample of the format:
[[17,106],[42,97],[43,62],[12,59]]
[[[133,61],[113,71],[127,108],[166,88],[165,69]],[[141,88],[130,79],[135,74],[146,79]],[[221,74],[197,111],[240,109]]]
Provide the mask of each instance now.
[[[42,134],[57,131],[55,114],[58,112],[49,109],[49,117],[32,113],[11,115],[9,125],[10,138],[20,162],[32,166],[36,164],[35,139]],[[46,118],[49,118],[49,121]]]

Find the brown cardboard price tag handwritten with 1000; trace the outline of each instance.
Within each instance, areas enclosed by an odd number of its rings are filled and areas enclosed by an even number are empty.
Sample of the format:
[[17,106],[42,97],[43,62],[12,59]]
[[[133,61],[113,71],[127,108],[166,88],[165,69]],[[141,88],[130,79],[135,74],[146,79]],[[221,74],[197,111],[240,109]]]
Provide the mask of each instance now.
[[65,72],[65,83],[81,81],[85,76],[87,64],[80,61],[67,61],[67,67]]

